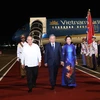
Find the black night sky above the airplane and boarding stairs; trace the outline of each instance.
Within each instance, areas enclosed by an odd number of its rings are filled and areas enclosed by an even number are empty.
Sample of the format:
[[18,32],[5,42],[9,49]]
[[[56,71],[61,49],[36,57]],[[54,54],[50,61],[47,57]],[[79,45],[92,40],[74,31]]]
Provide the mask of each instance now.
[[[47,18],[85,18],[88,9],[91,9],[92,18],[100,18],[100,7],[98,2],[70,2],[64,3],[48,1],[39,3],[11,2],[1,8],[1,32],[0,43],[13,42],[12,35],[21,26],[29,22],[30,17],[47,17]],[[5,3],[1,4],[4,5]]]

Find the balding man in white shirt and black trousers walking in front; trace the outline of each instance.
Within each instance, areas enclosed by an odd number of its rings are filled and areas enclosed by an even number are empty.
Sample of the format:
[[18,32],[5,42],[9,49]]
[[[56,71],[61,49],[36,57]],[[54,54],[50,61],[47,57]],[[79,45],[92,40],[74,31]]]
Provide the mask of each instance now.
[[41,66],[41,52],[31,36],[27,37],[27,43],[23,47],[21,64],[26,69],[28,92],[32,92],[32,88],[36,86],[38,67]]

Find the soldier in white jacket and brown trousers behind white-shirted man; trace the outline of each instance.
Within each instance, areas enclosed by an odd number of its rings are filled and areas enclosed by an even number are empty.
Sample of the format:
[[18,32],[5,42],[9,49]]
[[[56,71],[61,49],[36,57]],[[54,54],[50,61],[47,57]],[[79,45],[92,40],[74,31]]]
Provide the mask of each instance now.
[[25,36],[24,35],[21,35],[20,38],[21,38],[21,42],[19,42],[18,45],[17,45],[17,61],[19,61],[19,63],[20,63],[20,75],[21,75],[21,78],[24,78],[26,76],[26,71],[21,66],[21,56],[22,56],[23,46],[25,44],[27,44],[27,42],[25,41]]

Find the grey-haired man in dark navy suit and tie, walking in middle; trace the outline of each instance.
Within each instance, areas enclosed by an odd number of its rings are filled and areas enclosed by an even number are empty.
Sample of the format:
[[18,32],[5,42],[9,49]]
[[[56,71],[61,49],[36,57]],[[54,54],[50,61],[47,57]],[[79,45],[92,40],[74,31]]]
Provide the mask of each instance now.
[[63,66],[61,45],[55,42],[56,37],[52,34],[49,37],[49,43],[45,46],[45,66],[49,69],[49,79],[51,89],[53,90],[56,85],[57,73],[60,64]]

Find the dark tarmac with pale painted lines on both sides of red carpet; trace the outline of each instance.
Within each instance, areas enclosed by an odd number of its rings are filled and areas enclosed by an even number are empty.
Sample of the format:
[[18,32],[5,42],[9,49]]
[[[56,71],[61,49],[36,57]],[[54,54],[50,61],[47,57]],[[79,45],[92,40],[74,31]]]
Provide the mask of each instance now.
[[[15,62],[16,62],[16,48],[3,49],[2,54],[0,54],[0,78],[3,78],[4,75],[6,75],[9,72],[11,66]],[[81,58],[78,58],[78,65],[76,65],[76,69],[100,79],[100,67],[97,67],[97,70],[95,71],[88,67],[84,67],[82,66]]]

